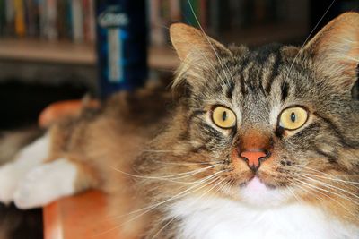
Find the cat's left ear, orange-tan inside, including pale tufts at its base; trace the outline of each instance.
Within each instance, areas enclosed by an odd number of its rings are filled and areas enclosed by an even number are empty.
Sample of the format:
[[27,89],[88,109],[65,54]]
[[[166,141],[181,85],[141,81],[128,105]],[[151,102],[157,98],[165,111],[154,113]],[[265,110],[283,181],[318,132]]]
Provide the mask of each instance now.
[[213,69],[216,63],[223,64],[223,55],[231,54],[229,49],[215,39],[183,23],[172,24],[170,36],[181,61],[173,87],[183,81],[196,87],[206,81],[204,71]]

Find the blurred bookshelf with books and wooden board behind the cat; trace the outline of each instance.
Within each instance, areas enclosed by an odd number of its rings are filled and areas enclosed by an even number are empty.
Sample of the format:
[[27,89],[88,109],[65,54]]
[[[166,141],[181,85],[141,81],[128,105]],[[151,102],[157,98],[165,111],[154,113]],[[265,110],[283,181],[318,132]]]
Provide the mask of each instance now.
[[[66,78],[73,74],[76,79],[79,79],[77,75],[80,75],[84,76],[86,81],[98,81],[95,77],[97,74],[94,73],[98,67],[93,42],[96,38],[94,5],[100,2],[95,0],[55,2],[0,0],[0,2],[5,3],[6,6],[0,8],[0,65],[5,68],[5,72],[0,73],[0,80],[4,77],[9,78],[9,75],[12,78],[29,78],[29,73],[33,73],[34,78],[45,80],[53,79],[53,75],[57,78]],[[176,69],[179,59],[168,45],[168,26],[171,22],[177,21],[198,26],[195,15],[206,32],[224,44],[258,46],[267,42],[287,43],[293,40],[299,43],[308,34],[309,0],[144,0],[144,2],[148,13],[148,39],[151,46],[148,51],[148,65],[155,71],[172,72]],[[20,20],[22,21],[18,22]],[[27,72],[11,72],[9,69],[19,67],[6,67],[10,64],[21,65]],[[66,67],[68,70],[65,69]],[[51,71],[61,73],[51,73]],[[88,74],[84,74],[85,72]],[[165,75],[165,73],[153,75],[158,77],[161,74]]]

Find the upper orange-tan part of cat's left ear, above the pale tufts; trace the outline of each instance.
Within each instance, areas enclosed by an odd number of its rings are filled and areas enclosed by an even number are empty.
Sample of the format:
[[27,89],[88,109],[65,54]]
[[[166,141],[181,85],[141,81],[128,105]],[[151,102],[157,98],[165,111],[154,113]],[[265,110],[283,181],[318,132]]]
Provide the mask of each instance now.
[[215,39],[206,36],[201,30],[183,23],[174,23],[170,27],[170,36],[173,47],[176,49],[182,62],[188,57],[209,57],[215,59],[216,54],[229,50]]

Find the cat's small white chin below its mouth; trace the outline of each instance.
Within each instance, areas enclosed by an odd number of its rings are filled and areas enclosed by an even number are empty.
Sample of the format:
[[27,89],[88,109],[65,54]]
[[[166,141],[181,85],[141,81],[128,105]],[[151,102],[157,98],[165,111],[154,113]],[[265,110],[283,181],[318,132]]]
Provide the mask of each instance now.
[[261,208],[278,206],[287,200],[284,189],[266,184],[257,176],[242,184],[239,191],[242,202]]

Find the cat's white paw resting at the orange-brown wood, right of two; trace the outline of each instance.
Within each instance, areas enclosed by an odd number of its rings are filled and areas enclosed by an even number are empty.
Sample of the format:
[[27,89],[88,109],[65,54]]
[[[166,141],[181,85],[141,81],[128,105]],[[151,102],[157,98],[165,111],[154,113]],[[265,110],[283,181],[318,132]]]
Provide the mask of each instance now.
[[14,203],[19,209],[32,209],[71,195],[74,193],[76,175],[76,166],[65,158],[38,166],[19,184]]

